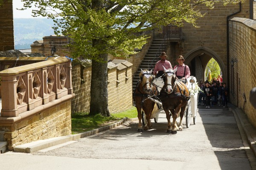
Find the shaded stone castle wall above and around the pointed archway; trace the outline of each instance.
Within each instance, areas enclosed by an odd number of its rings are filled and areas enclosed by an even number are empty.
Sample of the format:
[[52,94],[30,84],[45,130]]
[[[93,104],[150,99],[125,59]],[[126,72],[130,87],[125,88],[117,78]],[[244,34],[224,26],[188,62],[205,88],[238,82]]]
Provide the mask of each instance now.
[[[249,18],[249,5],[249,0],[245,0],[245,2],[241,4],[241,12],[232,17]],[[200,57],[203,71],[209,59],[213,57],[220,65],[223,79],[226,82],[227,17],[239,11],[239,4],[223,6],[222,3],[216,3],[214,9],[209,9],[201,4],[198,6],[198,9],[200,9],[202,13],[206,13],[206,15],[198,20],[197,26],[199,26],[199,28],[195,28],[189,23],[184,24],[182,27],[182,37],[184,38],[184,42],[181,45],[182,48],[177,48],[176,51],[179,51],[179,55],[185,57],[185,64],[189,66],[191,66],[189,62],[191,62],[192,59],[198,57],[201,53],[204,53]],[[197,55],[192,55],[193,51],[197,50],[201,52]],[[174,57],[177,58],[177,56]],[[177,62],[175,61],[173,65],[176,64]],[[192,66],[195,67],[193,64]],[[201,75],[198,75],[198,77],[201,77]]]

